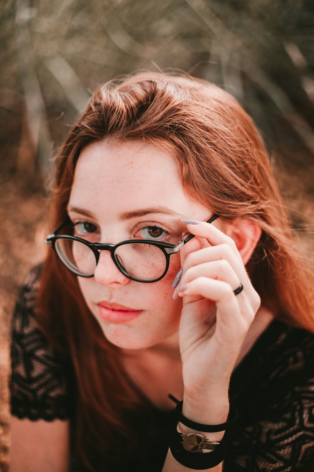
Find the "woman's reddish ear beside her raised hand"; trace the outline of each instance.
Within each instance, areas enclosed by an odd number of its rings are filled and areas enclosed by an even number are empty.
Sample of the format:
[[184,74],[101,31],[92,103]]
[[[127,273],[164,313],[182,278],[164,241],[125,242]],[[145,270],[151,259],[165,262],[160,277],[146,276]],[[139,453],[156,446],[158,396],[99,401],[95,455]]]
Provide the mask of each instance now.
[[233,222],[227,223],[225,232],[235,242],[243,264],[246,265],[258,244],[262,229],[249,218],[237,218]]

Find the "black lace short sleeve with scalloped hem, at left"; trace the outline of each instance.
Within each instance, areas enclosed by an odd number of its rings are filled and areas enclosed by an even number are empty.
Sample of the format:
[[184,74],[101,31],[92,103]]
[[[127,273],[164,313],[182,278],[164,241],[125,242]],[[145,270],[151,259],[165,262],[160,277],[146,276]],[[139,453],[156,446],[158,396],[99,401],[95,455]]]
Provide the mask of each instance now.
[[18,296],[12,320],[11,411],[31,420],[70,416],[72,372],[40,329],[36,299],[41,266],[35,267]]

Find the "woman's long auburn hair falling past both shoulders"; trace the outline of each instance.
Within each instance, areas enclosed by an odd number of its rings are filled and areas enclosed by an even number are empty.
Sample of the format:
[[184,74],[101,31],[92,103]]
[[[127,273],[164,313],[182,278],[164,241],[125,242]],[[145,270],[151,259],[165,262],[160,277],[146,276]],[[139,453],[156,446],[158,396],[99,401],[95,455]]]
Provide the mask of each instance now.
[[[312,270],[293,240],[261,137],[231,95],[190,76],[153,73],[98,87],[56,157],[52,229],[67,216],[82,149],[108,139],[161,146],[176,160],[187,196],[226,220],[255,221],[262,234],[247,270],[262,305],[314,331]],[[89,312],[76,277],[52,250],[43,265],[38,307],[41,328],[74,370],[73,450],[89,469],[100,470],[97,464],[119,455],[114,432],[133,437],[129,419],[145,409],[145,401],[123,370],[119,348]],[[128,444],[134,447],[130,439]]]

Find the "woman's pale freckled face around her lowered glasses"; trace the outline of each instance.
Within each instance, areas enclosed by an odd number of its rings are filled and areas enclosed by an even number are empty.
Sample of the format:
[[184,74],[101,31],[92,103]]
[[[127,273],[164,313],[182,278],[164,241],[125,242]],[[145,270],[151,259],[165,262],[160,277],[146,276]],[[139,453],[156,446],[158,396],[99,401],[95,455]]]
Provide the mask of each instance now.
[[[75,235],[92,242],[151,239],[177,244],[180,218],[205,220],[211,211],[187,198],[174,158],[150,143],[88,145],[78,160],[68,204]],[[92,278],[78,277],[84,299],[105,337],[126,349],[177,345],[182,299],[171,287],[180,255],[158,282],[124,276],[109,251],[101,251]],[[118,305],[122,305],[118,306]]]

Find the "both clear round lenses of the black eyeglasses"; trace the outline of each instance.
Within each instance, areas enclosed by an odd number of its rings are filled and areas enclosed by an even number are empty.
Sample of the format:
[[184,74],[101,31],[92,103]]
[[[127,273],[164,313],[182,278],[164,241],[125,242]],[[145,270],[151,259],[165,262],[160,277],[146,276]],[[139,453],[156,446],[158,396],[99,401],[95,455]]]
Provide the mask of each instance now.
[[[86,244],[72,239],[56,240],[56,252],[68,269],[77,275],[91,276],[96,269],[96,257]],[[166,256],[152,244],[130,243],[118,246],[114,253],[118,265],[128,275],[141,280],[154,280],[166,270]]]

